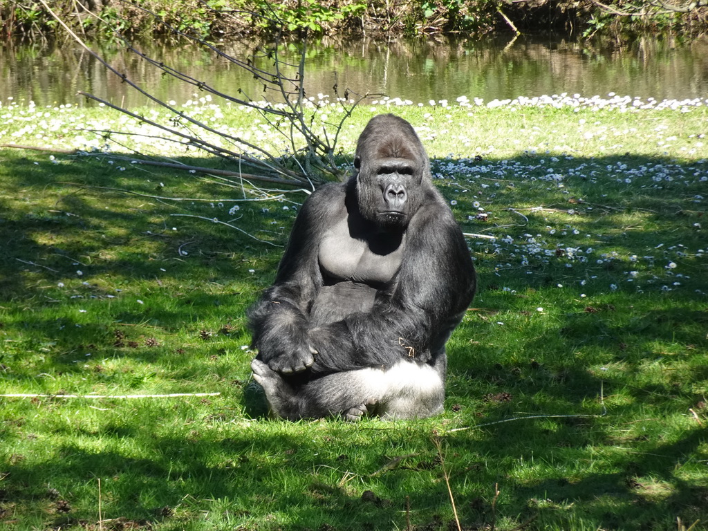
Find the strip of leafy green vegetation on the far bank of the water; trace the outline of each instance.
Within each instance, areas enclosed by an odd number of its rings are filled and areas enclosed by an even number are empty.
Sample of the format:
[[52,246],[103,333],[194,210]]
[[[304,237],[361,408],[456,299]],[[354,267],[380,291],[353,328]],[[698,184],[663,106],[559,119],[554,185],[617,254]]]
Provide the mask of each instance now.
[[0,36],[55,36],[47,6],[90,38],[115,38],[115,30],[133,38],[169,37],[175,30],[212,40],[281,32],[297,38],[307,30],[339,38],[552,31],[624,40],[642,32],[687,38],[705,33],[708,24],[704,0],[0,0]]

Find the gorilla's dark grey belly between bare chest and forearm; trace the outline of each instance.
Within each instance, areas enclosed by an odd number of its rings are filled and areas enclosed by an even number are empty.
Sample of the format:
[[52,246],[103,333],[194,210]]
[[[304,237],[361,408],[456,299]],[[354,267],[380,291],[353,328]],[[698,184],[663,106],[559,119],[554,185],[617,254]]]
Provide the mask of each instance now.
[[313,326],[322,326],[341,321],[355,312],[369,312],[375,297],[375,288],[359,282],[322,286],[312,304],[310,322]]

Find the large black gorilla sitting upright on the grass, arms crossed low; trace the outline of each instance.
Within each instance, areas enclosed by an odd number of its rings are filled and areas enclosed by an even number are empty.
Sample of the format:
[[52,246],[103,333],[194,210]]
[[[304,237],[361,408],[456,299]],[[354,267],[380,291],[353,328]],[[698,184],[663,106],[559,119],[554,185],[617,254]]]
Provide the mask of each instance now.
[[372,118],[354,166],[304,202],[249,309],[253,378],[282,418],[442,411],[445,342],[474,296],[467,243],[409,122]]

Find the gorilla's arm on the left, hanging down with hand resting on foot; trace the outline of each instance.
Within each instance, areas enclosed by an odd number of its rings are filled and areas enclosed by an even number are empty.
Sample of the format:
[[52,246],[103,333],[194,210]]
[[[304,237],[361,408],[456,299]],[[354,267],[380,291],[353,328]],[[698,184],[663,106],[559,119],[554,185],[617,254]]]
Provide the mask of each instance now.
[[299,372],[312,365],[307,331],[309,307],[321,285],[317,253],[326,218],[342,202],[340,190],[324,186],[304,202],[273,286],[249,309],[251,347],[275,371]]

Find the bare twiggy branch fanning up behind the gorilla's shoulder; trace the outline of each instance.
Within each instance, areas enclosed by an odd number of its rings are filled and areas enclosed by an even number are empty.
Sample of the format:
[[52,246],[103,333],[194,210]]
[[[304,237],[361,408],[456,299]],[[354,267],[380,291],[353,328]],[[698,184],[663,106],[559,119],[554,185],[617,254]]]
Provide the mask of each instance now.
[[[253,144],[243,138],[231,135],[229,132],[215,130],[206,122],[198,120],[188,112],[178,108],[176,103],[161,100],[146,89],[142,89],[136,81],[129,79],[127,74],[119,72],[118,69],[108,64],[108,62],[100,57],[96,52],[93,52],[93,50],[91,50],[91,48],[89,48],[89,46],[81,40],[79,35],[76,35],[76,33],[74,33],[69,26],[64,23],[64,21],[62,21],[61,16],[57,15],[55,11],[52,11],[52,8],[50,8],[47,0],[40,1],[47,9],[47,12],[50,13],[55,20],[57,20],[62,28],[64,28],[64,30],[66,30],[67,33],[69,33],[69,35],[71,35],[71,37],[76,40],[79,45],[81,45],[81,47],[95,57],[98,62],[101,62],[101,64],[103,64],[109,72],[112,72],[116,76],[120,77],[123,83],[127,84],[132,89],[135,89],[138,93],[148,98],[149,101],[159,105],[161,108],[169,110],[169,113],[172,113],[174,118],[170,125],[166,125],[156,119],[146,118],[145,116],[122,108],[119,105],[114,105],[113,103],[105,101],[89,93],[82,92],[81,94],[83,96],[86,96],[93,101],[98,101],[109,108],[118,110],[120,113],[124,113],[125,115],[135,118],[136,120],[139,120],[139,122],[150,125],[156,128],[156,130],[166,134],[165,136],[156,136],[156,138],[164,139],[169,142],[176,142],[177,144],[182,144],[185,147],[195,147],[196,149],[200,149],[208,154],[219,156],[229,161],[236,161],[239,163],[239,166],[241,163],[244,163],[255,167],[264,173],[263,176],[260,176],[254,175],[254,172],[251,172],[246,174],[247,178],[257,178],[263,182],[271,182],[280,185],[291,184],[295,186],[307,185],[309,187],[313,187],[313,183],[319,184],[323,181],[342,177],[343,172],[338,168],[334,159],[336,142],[338,140],[339,133],[341,132],[343,121],[350,116],[351,111],[356,105],[358,105],[358,103],[360,103],[362,98],[359,98],[358,101],[351,101],[350,104],[347,104],[345,101],[341,101],[338,98],[338,103],[345,109],[345,113],[343,113],[343,118],[341,121],[339,121],[338,124],[333,125],[336,129],[335,134],[333,136],[328,134],[326,128],[329,124],[322,125],[321,133],[316,132],[316,127],[319,126],[315,123],[314,118],[319,107],[316,103],[313,104],[308,100],[304,85],[304,64],[307,54],[307,42],[305,42],[305,40],[302,41],[299,61],[295,64],[291,64],[280,57],[280,35],[275,38],[275,43],[272,47],[265,50],[258,50],[257,54],[254,52],[254,55],[251,57],[241,59],[238,57],[232,57],[223,50],[219,50],[216,45],[195,35],[191,35],[188,33],[188,30],[183,31],[178,28],[173,28],[169,24],[162,21],[163,25],[165,25],[166,28],[168,28],[174,35],[178,35],[189,40],[190,42],[206,47],[208,50],[215,53],[217,57],[231,62],[236,65],[236,67],[246,70],[246,72],[251,74],[251,76],[263,84],[264,91],[270,91],[273,96],[277,94],[276,100],[280,100],[280,103],[274,104],[270,101],[254,101],[251,96],[244,93],[241,89],[237,92],[239,96],[234,96],[232,94],[219,91],[214,86],[207,84],[205,81],[195,79],[195,77],[190,76],[189,74],[185,74],[184,72],[180,72],[177,69],[164,64],[164,62],[161,62],[159,59],[149,57],[146,53],[137,50],[137,48],[128,42],[128,40],[118,30],[114,30],[115,35],[125,42],[127,50],[135,53],[138,57],[152,65],[152,67],[160,69],[162,72],[169,74],[174,79],[189,84],[190,86],[195,86],[200,91],[204,91],[222,101],[236,103],[236,105],[242,107],[255,109],[261,114],[261,116],[263,116],[263,118],[265,118],[268,124],[283,135],[285,139],[287,139],[290,144],[290,149],[281,152],[278,147],[275,147],[274,150],[269,150],[268,147]],[[91,13],[91,11],[89,11],[89,9],[83,4],[79,5],[81,5],[87,13],[90,13],[91,16],[102,20],[95,13]],[[154,18],[161,20],[156,13],[153,13],[148,8],[144,8],[143,6],[135,6],[132,3],[131,6],[139,8],[145,13],[149,13],[149,15],[154,16]],[[224,15],[234,16],[234,11],[224,11]],[[110,26],[110,23],[106,21],[103,21],[103,23]],[[272,60],[272,68],[263,67],[260,62],[261,59]],[[135,132],[102,131],[101,133],[108,135],[139,135],[139,133]],[[205,136],[202,136],[202,133]],[[145,136],[150,137],[152,135]],[[300,147],[296,143],[296,138],[299,139],[300,137],[304,139],[304,147]],[[215,139],[217,140],[215,141]],[[222,140],[223,142],[219,142],[219,140]],[[128,147],[128,149],[135,150],[135,148],[130,147]],[[136,152],[139,153],[139,151]],[[255,173],[261,172],[257,171]],[[275,180],[269,181],[269,179]]]

